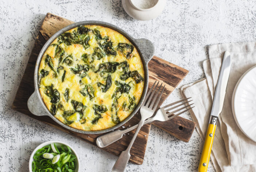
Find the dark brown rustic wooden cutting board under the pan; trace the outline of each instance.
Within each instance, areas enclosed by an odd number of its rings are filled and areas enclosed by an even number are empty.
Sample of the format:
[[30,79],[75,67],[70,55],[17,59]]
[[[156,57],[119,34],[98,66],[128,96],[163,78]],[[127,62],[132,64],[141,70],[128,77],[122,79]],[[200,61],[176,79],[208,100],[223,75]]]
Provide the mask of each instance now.
[[[28,111],[28,108],[27,108],[27,100],[30,97],[30,95],[34,92],[34,69],[35,69],[35,63],[41,48],[54,33],[56,33],[61,28],[72,23],[74,22],[56,15],[53,15],[51,13],[47,13],[45,20],[43,21],[43,24],[39,30],[30,58],[28,60],[27,67],[25,69],[24,75],[20,82],[14,102],[12,104],[12,109],[15,109],[16,111],[24,113],[30,117],[33,117],[34,119],[37,119],[39,121],[42,121],[43,123],[49,124],[55,128],[58,128],[64,132],[69,133],[70,135],[73,135],[81,140],[84,140],[96,146],[95,139],[99,135],[85,135],[85,134],[69,131],[66,128],[63,128],[57,123],[55,123],[48,116],[33,115],[32,113],[30,113],[30,111]],[[153,57],[153,59],[149,62],[148,65],[149,65],[149,88],[152,86],[154,80],[160,80],[166,84],[163,97],[160,100],[160,104],[162,104],[164,100],[171,94],[171,92],[177,87],[180,81],[182,81],[182,79],[187,75],[188,71],[172,63],[169,63],[163,59],[160,59],[156,56]],[[133,126],[137,124],[139,120],[140,120],[140,114],[137,113],[131,120],[129,120],[125,125],[123,125],[119,129],[123,129],[123,127],[127,128],[129,126]],[[193,121],[190,121],[178,116],[170,121],[166,121],[164,123],[157,122],[157,123],[153,123],[153,125],[156,125],[161,129],[164,129],[165,131],[167,131],[168,133],[177,137],[180,140],[188,142],[195,129],[196,124]],[[150,126],[151,124],[147,124],[142,127],[140,133],[137,136],[137,139],[133,144],[133,147],[131,148],[130,161],[132,163],[135,163],[135,164],[143,163]],[[129,132],[129,135],[127,134],[123,136],[123,138],[120,139],[119,141],[116,141],[115,143],[103,149],[114,155],[119,155],[122,151],[126,149],[128,144],[130,143],[130,140],[133,137],[134,132],[135,131]]]

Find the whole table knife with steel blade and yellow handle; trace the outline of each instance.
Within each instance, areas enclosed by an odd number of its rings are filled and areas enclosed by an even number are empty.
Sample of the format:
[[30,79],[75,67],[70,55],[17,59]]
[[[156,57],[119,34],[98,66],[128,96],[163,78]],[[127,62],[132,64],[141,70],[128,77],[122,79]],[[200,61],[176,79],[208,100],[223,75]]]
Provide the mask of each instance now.
[[203,151],[198,167],[199,172],[206,172],[210,160],[211,147],[213,146],[213,139],[215,134],[215,129],[217,125],[218,116],[222,111],[223,103],[226,95],[226,88],[229,80],[229,73],[231,67],[231,57],[228,51],[225,52],[221,70],[219,72],[219,78],[215,90],[215,95],[213,99],[213,107],[211,109],[211,116],[205,136],[205,143],[203,145]]

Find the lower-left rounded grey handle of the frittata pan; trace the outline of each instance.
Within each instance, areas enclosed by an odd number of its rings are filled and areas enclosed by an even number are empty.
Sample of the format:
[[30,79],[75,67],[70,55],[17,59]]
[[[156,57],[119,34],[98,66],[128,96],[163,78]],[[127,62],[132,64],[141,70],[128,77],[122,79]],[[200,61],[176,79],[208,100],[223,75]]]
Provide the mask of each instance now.
[[37,91],[29,97],[27,101],[28,110],[37,116],[48,116],[48,112],[42,107],[42,104],[37,95]]

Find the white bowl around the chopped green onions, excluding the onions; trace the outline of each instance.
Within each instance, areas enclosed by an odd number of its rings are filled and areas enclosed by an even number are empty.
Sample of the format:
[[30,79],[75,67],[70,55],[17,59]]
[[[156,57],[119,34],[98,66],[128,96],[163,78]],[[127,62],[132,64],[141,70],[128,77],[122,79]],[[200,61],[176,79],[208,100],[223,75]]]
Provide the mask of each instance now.
[[72,154],[76,156],[76,170],[75,171],[79,172],[80,171],[79,157],[78,157],[76,151],[69,144],[66,144],[66,143],[64,143],[62,141],[46,141],[45,143],[42,143],[37,148],[35,148],[35,150],[31,154],[29,162],[28,162],[29,172],[32,172],[32,162],[34,160],[33,156],[34,156],[35,152],[38,149],[41,149],[42,147],[44,147],[46,145],[49,145],[49,144],[52,144],[52,143],[55,143],[57,146],[66,145],[66,146],[70,147],[70,149],[72,151]]

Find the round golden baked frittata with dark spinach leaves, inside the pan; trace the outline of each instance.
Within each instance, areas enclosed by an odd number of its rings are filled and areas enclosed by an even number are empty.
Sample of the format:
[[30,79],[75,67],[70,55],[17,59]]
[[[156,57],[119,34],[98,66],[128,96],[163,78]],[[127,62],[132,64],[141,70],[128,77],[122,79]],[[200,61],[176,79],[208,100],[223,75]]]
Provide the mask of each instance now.
[[144,90],[137,49],[121,33],[100,25],[79,26],[58,36],[43,54],[38,73],[49,111],[84,131],[125,120]]

